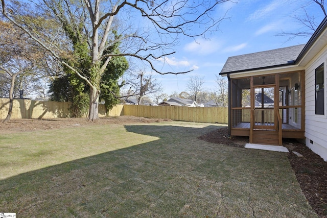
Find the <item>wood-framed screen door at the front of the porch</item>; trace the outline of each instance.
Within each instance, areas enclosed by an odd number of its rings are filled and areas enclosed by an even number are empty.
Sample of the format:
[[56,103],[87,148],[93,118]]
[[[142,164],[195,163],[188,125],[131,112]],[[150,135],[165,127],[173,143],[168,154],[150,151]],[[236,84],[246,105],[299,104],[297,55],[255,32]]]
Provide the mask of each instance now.
[[[275,130],[275,85],[255,86],[252,92],[254,108],[251,122],[253,130]],[[278,102],[278,100],[277,100]]]

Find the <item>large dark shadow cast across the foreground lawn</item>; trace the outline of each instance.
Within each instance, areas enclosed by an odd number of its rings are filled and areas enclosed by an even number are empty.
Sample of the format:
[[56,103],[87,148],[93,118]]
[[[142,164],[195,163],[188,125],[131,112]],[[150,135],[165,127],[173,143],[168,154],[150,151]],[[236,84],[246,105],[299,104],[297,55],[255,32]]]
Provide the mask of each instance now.
[[0,208],[19,217],[315,216],[285,154],[197,139],[217,126],[125,128],[160,139],[2,180]]

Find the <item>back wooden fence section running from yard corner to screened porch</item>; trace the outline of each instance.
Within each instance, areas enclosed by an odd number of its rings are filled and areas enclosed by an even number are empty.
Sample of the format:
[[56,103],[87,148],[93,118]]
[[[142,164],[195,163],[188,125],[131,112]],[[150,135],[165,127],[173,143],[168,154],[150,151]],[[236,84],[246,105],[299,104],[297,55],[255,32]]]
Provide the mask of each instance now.
[[124,105],[124,115],[147,118],[169,118],[199,123],[228,124],[228,108],[200,108],[180,106]]

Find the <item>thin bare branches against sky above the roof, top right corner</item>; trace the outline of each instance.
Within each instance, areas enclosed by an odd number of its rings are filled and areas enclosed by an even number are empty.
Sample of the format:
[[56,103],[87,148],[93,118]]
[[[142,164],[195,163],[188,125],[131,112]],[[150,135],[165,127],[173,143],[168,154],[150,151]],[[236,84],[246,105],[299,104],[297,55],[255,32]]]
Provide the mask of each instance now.
[[[319,13],[316,13],[318,12],[318,10],[315,11],[314,14],[308,13],[306,8],[311,4],[316,4],[316,6],[320,9]],[[306,5],[302,5],[301,9],[304,12],[303,16],[294,15],[292,17],[295,20],[297,20],[297,22],[299,22],[303,26],[303,28],[301,28],[298,32],[283,31],[281,33],[278,33],[277,36],[289,36],[288,40],[292,40],[297,36],[303,36],[303,37],[311,36],[319,26],[319,23],[321,22],[321,19],[319,18],[319,20],[317,20],[317,17],[319,15],[323,15],[323,17],[327,15],[325,10],[324,0],[310,0],[307,2]]]

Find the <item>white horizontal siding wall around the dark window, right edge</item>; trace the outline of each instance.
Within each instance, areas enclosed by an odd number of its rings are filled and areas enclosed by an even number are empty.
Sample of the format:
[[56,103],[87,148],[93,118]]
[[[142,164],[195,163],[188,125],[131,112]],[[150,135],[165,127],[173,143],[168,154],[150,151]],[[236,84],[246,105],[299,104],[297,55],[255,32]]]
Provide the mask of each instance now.
[[[327,107],[326,87],[324,88],[324,114],[315,115],[315,69],[324,63],[324,79],[326,84],[327,47],[324,52],[316,56],[306,67],[306,128],[307,146],[327,161]],[[310,141],[311,140],[311,141]]]

